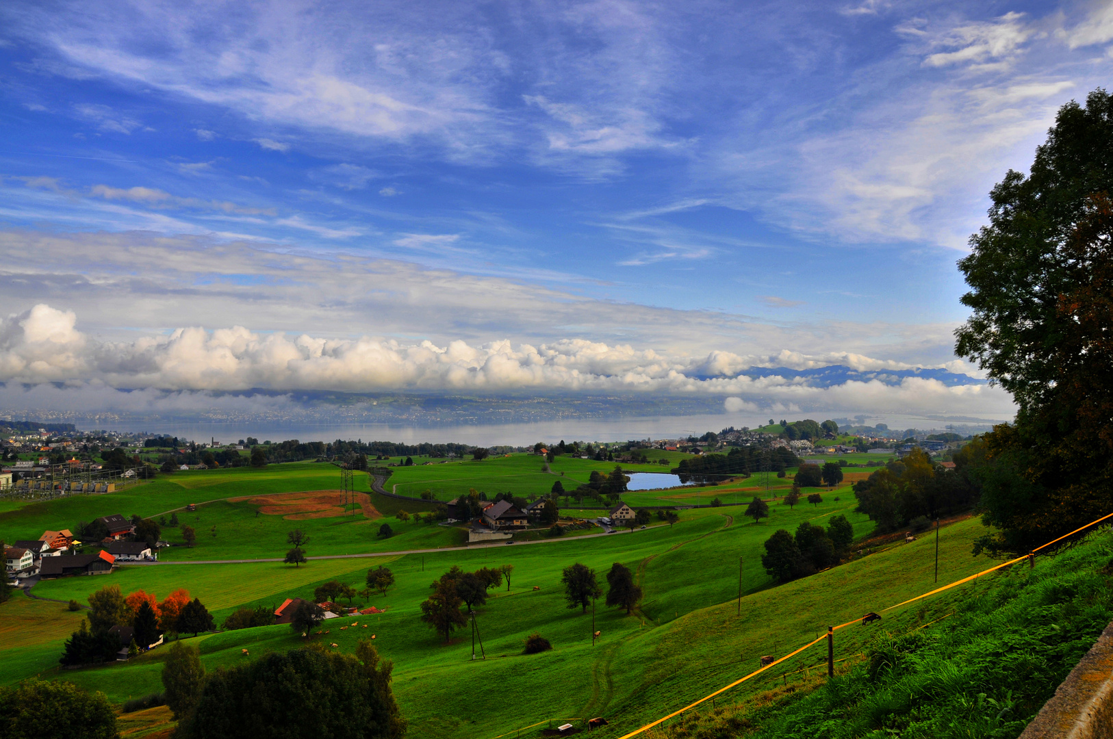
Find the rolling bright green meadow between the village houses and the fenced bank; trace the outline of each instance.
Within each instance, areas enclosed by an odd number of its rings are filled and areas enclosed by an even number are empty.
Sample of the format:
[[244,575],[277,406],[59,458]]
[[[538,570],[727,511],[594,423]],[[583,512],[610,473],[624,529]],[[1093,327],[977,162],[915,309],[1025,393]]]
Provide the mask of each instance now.
[[[565,462],[570,463],[567,469],[556,465],[556,472],[565,472],[565,479],[583,475],[585,480],[590,474],[587,461]],[[469,484],[489,492],[499,492],[501,485],[506,484],[502,477],[532,474],[544,475],[546,481],[554,479],[552,474],[540,472],[538,457],[516,455],[481,463],[402,467],[390,482],[412,475],[416,483],[418,474],[427,476],[431,471],[440,473],[443,469],[440,480],[447,483],[451,480],[447,473],[453,466],[457,477],[462,474],[461,469],[467,470],[472,475]],[[286,471],[290,473],[289,480],[284,479]],[[492,482],[483,482],[481,471],[489,471]],[[59,579],[35,588],[37,595],[62,602],[32,601],[18,594],[0,605],[0,624],[4,624],[0,625],[0,650],[6,657],[0,660],[0,683],[35,674],[65,677],[105,691],[115,702],[160,690],[165,650],[156,649],[125,664],[58,669],[62,644],[81,619],[80,613],[66,610],[65,601],[73,599],[86,603],[92,591],[106,584],[118,584],[125,593],[141,589],[159,599],[185,588],[206,604],[219,623],[240,605],[272,607],[286,598],[312,598],[314,588],[327,580],[336,579],[357,590],[363,589],[367,569],[385,564],[395,573],[395,587],[385,597],[355,601],[355,604],[385,608],[385,613],[332,619],[322,627],[327,629],[327,634],[307,638],[293,633],[285,625],[203,634],[194,641],[200,647],[206,668],[214,670],[236,664],[269,650],[290,649],[308,640],[352,652],[359,639],[374,634],[376,648],[394,662],[394,689],[411,722],[411,737],[493,738],[539,721],[593,716],[605,716],[611,721],[604,736],[619,736],[747,674],[764,654],[787,653],[823,633],[827,625],[860,618],[868,611],[881,611],[935,584],[935,542],[926,538],[912,543],[900,542],[810,578],[775,587],[761,566],[760,556],[762,543],[777,529],[794,530],[802,521],[824,524],[831,515],[844,514],[854,524],[856,536],[871,533],[873,524],[854,512],[854,496],[845,486],[824,491],[824,501],[818,505],[805,503],[789,508],[771,500],[770,516],[759,523],[746,519],[741,508],[688,509],[680,512],[680,522],[672,526],[660,523],[654,516],[649,528],[633,532],[570,535],[463,550],[446,549],[459,543],[451,540],[456,531],[452,528],[415,525],[387,518],[385,520],[401,533],[381,540],[375,535],[381,519],[339,516],[290,522],[278,515],[257,515],[258,506],[249,502],[225,500],[304,492],[314,490],[313,485],[317,485],[316,490],[334,490],[337,479],[335,467],[313,463],[275,465],[264,471],[201,472],[162,477],[120,494],[55,501],[50,511],[42,510],[42,504],[32,504],[0,514],[4,535],[11,535],[8,532],[12,531],[22,538],[38,533],[35,529],[57,528],[59,524],[51,515],[66,521],[97,511],[99,514],[119,510],[150,515],[186,502],[211,501],[200,505],[196,513],[179,514],[183,523],[197,529],[198,543],[193,550],[173,548],[164,551],[162,564],[124,565],[108,575]],[[365,475],[357,476],[357,481],[361,490],[368,490]],[[745,493],[749,497],[755,491],[741,489],[760,486],[764,490],[764,484],[749,483],[768,482],[771,492],[767,500],[790,484],[790,480],[775,476],[768,481],[740,482],[746,484],[733,486],[740,489],[739,495]],[[713,493],[730,502],[728,499],[733,493],[725,492],[730,487],[728,483],[701,489],[698,494]],[[647,491],[646,494],[692,493],[697,491]],[[634,495],[624,495],[623,500],[630,501]],[[99,508],[86,509],[92,501],[99,503]],[[392,515],[398,505],[408,505],[408,502],[377,494],[372,495],[372,501],[384,509],[394,505]],[[407,549],[435,551],[312,560],[302,566],[279,562],[206,564],[189,561],[280,556],[285,549],[284,532],[293,528],[290,524],[309,531],[309,555]],[[215,538],[208,534],[209,525],[217,528]],[[973,574],[989,565],[985,559],[969,554],[974,539],[983,532],[982,524],[973,519],[942,530],[940,582]],[[228,556],[232,552],[238,556]],[[605,572],[612,563],[629,566],[643,589],[640,607],[627,614],[607,608],[600,599],[594,613],[568,609],[560,579],[562,569],[574,562],[593,568],[604,587]],[[509,588],[504,584],[493,591],[489,602],[476,610],[475,623],[486,659],[473,661],[471,631],[457,632],[451,643],[443,643],[443,639],[420,620],[420,604],[429,593],[430,583],[452,565],[473,570],[501,564],[512,564],[514,571]],[[987,581],[998,577],[989,575]],[[946,615],[948,609],[953,610],[955,603],[977,592],[979,587],[973,583],[886,612],[884,629],[902,632],[932,622]],[[592,628],[601,632],[594,644]],[[532,632],[549,639],[554,649],[523,656],[523,642]],[[839,631],[837,657],[845,658],[847,664],[860,659],[877,633],[876,624],[855,624]],[[329,646],[333,643],[337,647]],[[243,653],[244,649],[248,654]],[[476,653],[480,653],[479,644]],[[726,700],[745,701],[775,684],[784,689],[799,681],[804,686],[814,679],[814,666],[823,657],[817,646],[770,670],[761,679],[743,683],[728,693]],[[475,693],[494,686],[522,698],[514,701],[514,711],[474,710]]]

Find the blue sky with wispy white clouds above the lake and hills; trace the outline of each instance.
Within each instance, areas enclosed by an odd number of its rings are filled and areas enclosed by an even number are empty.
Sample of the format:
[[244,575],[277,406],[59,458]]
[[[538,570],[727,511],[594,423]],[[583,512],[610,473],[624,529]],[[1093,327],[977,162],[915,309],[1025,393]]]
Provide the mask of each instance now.
[[0,380],[976,374],[955,260],[1111,41],[1094,2],[8,2]]

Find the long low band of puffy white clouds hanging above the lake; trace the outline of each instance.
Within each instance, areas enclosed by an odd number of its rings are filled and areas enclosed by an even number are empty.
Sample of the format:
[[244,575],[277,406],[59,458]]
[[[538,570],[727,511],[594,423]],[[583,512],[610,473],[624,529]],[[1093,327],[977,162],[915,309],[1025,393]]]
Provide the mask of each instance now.
[[728,411],[774,404],[871,413],[938,413],[1001,417],[1007,396],[987,385],[947,386],[910,377],[898,385],[845,382],[814,387],[777,376],[695,374],[690,361],[580,338],[513,345],[450,341],[323,338],[260,334],[243,326],[97,342],[77,331],[77,316],[45,304],[0,322],[0,382],[43,381],[183,391],[436,390],[652,392],[729,395]]

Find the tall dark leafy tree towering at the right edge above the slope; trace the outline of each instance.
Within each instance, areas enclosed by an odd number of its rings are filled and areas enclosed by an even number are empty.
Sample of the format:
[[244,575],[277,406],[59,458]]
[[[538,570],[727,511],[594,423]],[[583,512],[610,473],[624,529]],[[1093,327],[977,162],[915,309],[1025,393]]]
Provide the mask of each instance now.
[[991,193],[989,223],[958,263],[972,308],[959,356],[1012,393],[985,436],[989,552],[1027,552],[1113,510],[1113,96],[1063,106],[1028,176]]

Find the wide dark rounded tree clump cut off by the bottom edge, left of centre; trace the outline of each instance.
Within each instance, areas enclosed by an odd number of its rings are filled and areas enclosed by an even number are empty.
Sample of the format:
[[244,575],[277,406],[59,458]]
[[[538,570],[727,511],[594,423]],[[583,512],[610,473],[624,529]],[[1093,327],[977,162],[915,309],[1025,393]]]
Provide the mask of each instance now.
[[312,648],[272,652],[210,674],[176,736],[401,739],[405,721],[391,692],[392,669],[366,641],[356,657]]

